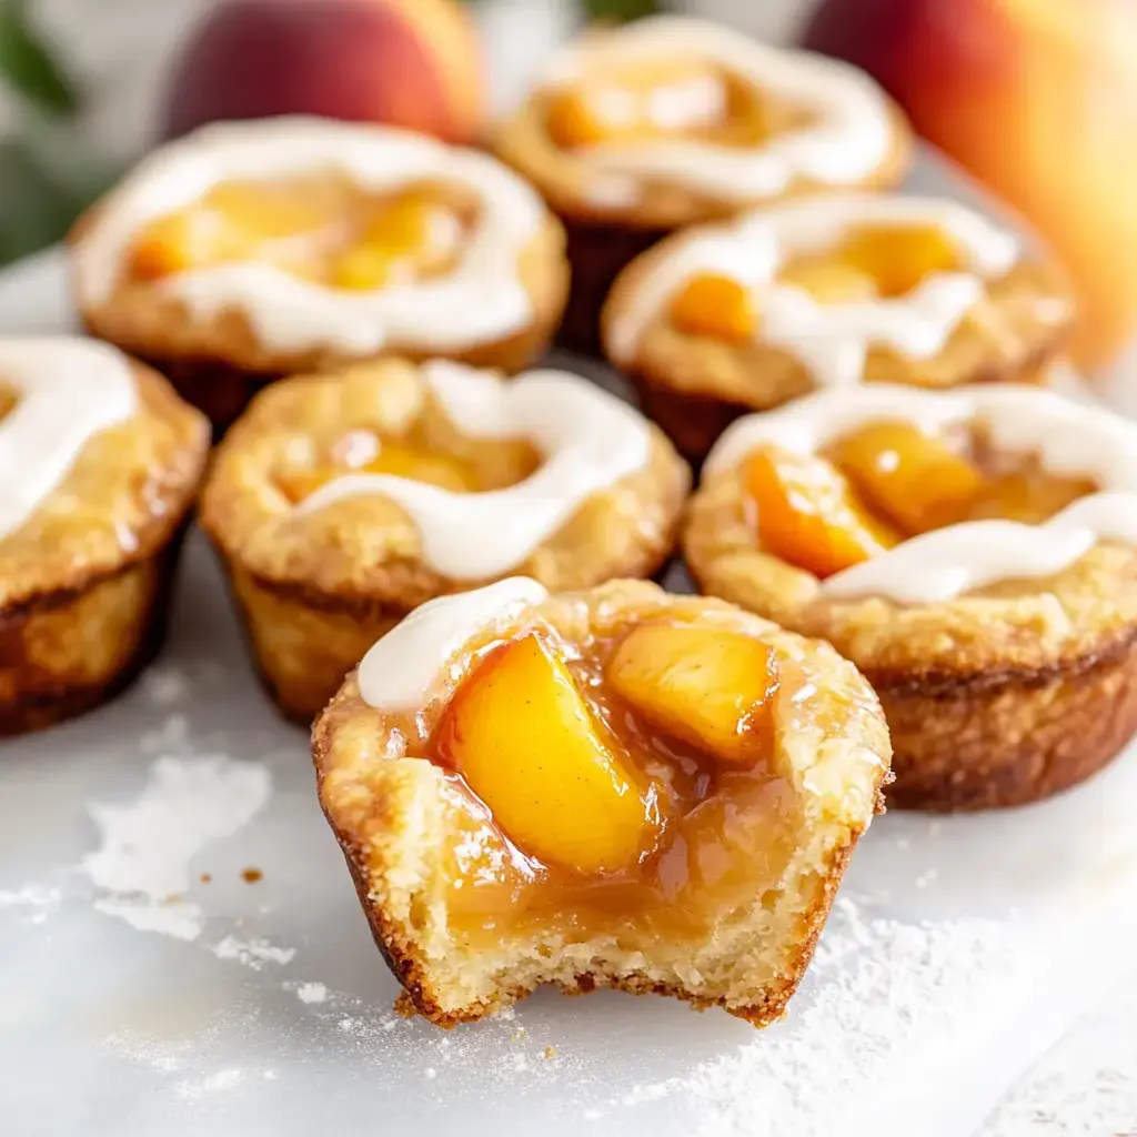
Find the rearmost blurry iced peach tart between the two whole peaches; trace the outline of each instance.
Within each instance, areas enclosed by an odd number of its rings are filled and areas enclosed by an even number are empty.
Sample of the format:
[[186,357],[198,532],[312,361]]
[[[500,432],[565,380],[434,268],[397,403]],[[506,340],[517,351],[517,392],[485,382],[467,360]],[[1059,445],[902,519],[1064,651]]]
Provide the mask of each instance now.
[[[753,139],[714,136],[740,114]],[[492,144],[565,223],[572,294],[559,339],[597,352],[613,280],[661,236],[788,197],[893,185],[911,132],[846,64],[658,16],[557,55]]]

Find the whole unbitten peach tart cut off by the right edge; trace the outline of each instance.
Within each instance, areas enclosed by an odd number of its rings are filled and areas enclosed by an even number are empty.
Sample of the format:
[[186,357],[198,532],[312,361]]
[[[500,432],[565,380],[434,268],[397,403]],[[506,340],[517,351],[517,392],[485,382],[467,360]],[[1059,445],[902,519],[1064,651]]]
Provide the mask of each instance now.
[[1030,802],[1137,729],[1137,425],[1030,387],[750,415],[684,532],[702,588],[829,640],[888,717],[890,799]]

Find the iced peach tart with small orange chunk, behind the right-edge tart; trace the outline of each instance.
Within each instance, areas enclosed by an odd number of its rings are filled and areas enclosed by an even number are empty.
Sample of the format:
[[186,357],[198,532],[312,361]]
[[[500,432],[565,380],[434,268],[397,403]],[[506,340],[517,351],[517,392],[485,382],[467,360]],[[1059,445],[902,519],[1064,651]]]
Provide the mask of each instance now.
[[833,194],[675,234],[621,274],[607,357],[692,458],[728,423],[818,388],[1037,381],[1065,282],[954,201]]

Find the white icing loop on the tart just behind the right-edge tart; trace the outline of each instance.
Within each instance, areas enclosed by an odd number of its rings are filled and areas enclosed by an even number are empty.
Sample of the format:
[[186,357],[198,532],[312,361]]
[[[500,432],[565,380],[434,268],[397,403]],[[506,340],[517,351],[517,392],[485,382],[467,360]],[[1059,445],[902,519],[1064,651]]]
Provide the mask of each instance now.
[[[963,269],[933,273],[906,296],[857,304],[819,304],[775,281],[792,257],[832,248],[865,224],[935,225],[955,243]],[[819,387],[849,385],[864,377],[874,343],[913,359],[935,356],[982,297],[985,281],[1004,275],[1019,254],[1012,233],[954,201],[888,194],[794,201],[678,240],[612,321],[608,351],[629,365],[659,310],[694,276],[713,273],[749,290],[760,313],[756,338],[796,355]]]

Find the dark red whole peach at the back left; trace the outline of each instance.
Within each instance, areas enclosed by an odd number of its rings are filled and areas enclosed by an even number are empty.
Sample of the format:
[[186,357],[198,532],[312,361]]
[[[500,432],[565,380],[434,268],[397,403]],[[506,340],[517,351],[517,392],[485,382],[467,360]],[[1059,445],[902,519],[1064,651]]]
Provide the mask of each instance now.
[[484,99],[468,13],[457,0],[224,0],[175,65],[166,135],[289,114],[473,141]]

